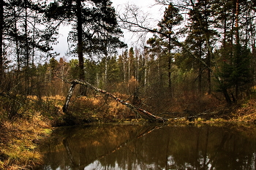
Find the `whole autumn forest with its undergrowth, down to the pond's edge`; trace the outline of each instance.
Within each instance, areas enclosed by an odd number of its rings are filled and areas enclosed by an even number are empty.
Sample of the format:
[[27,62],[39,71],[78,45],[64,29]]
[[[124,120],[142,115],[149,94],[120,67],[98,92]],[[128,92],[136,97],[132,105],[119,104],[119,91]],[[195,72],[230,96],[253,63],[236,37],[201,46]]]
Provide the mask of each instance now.
[[[116,12],[111,4],[0,0],[0,143],[31,124],[44,134],[59,125],[139,121],[140,111],[168,122],[233,119],[242,109],[256,120],[245,109],[255,104],[255,1],[156,0],[165,12],[155,28],[139,7]],[[72,26],[70,60],[53,50],[60,26]],[[128,47],[123,29],[152,36]],[[0,169],[16,163],[7,150]]]

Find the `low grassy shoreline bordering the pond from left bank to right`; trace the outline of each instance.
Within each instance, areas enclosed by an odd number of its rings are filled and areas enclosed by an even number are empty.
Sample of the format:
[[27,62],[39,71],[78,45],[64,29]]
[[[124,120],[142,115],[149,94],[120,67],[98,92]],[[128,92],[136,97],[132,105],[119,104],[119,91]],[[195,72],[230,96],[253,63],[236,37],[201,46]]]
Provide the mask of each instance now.
[[[256,100],[250,99],[231,107],[218,108],[215,112],[211,112],[212,114],[201,114],[201,116],[199,114],[194,117],[194,120],[189,120],[186,117],[169,117],[165,124],[221,125],[222,123],[232,123],[245,126],[255,125],[255,108]],[[118,107],[118,109],[120,108]],[[123,108],[122,110],[126,111],[127,109]],[[117,111],[113,114],[116,113]],[[59,113],[58,116],[58,120],[63,123],[64,115]],[[118,119],[118,117],[113,116],[112,119],[109,118],[107,121],[103,121],[102,117],[97,117],[97,113],[93,116],[94,121],[91,122],[85,122],[84,117],[77,117],[78,124],[76,125],[137,125],[148,123],[147,120],[135,116],[128,119],[124,119],[124,117]],[[39,112],[31,117],[17,117],[15,120],[2,121],[0,125],[0,169],[37,168],[42,163],[42,155],[38,150],[39,142],[47,139],[56,125],[58,125],[56,120],[44,117]],[[69,126],[68,124],[62,125]]]

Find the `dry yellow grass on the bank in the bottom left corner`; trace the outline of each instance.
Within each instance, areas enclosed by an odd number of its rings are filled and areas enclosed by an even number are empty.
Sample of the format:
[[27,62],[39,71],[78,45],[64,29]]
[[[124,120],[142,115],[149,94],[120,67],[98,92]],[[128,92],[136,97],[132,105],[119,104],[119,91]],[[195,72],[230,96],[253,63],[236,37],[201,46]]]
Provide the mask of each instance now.
[[39,139],[47,136],[50,126],[40,115],[30,119],[4,121],[0,133],[0,169],[32,169],[41,162]]

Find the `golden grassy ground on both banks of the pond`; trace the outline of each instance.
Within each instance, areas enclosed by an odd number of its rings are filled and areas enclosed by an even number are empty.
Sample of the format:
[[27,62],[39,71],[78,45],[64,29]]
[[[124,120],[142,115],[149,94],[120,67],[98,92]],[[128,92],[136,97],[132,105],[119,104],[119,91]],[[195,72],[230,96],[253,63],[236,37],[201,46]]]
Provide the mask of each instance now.
[[[50,98],[48,98],[49,101]],[[53,126],[64,123],[64,113],[61,112],[61,104],[64,97],[51,98],[51,114],[33,112],[29,117],[15,117],[12,120],[1,120],[0,123],[0,169],[35,169],[42,163],[42,155],[38,150],[41,139],[50,135]],[[79,98],[69,109],[73,109],[74,116],[87,122],[120,122],[139,121],[138,115],[132,113],[129,108],[118,104],[116,101],[108,105],[100,103],[100,98]],[[89,107],[90,106],[90,107]],[[90,108],[90,109],[88,109]],[[83,112],[82,112],[83,111]],[[128,114],[125,114],[125,113]],[[120,114],[121,113],[121,114]],[[54,115],[53,115],[54,114]],[[86,115],[86,116],[85,116]],[[240,101],[239,104],[226,106],[223,104],[208,113],[197,114],[189,121],[179,117],[170,119],[181,123],[218,123],[218,122],[256,122],[256,98]],[[75,123],[75,122],[73,122]]]

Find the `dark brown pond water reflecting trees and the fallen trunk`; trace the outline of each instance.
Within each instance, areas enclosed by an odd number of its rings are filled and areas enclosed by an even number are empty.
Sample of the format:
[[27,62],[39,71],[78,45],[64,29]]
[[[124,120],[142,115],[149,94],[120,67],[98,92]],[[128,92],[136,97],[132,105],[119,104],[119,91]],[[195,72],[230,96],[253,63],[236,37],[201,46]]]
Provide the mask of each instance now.
[[255,129],[255,125],[60,128],[42,144],[42,169],[255,169]]

